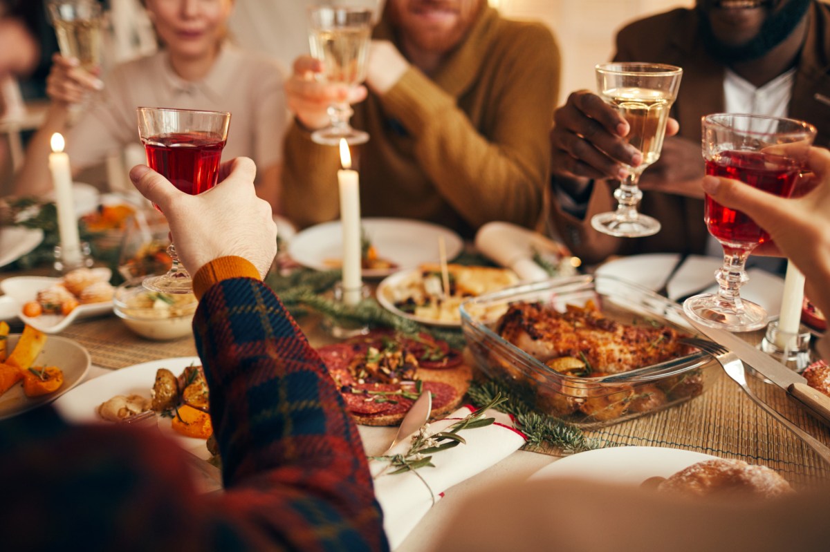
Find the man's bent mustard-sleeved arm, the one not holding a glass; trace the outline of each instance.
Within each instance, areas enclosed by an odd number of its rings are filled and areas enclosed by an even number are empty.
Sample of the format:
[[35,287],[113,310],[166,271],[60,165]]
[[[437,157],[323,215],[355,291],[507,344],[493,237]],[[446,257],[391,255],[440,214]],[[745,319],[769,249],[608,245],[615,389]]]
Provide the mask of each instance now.
[[[491,121],[486,130],[473,127],[457,99],[414,67],[388,90],[383,90],[388,84],[382,74],[381,84],[374,82],[370,67],[367,84],[388,116],[414,138],[419,166],[467,223],[478,227],[507,220],[532,226],[540,216],[549,171],[547,138],[559,92],[559,48],[547,29],[530,25],[492,47],[499,50],[500,76],[485,108]],[[374,42],[372,58],[383,51],[401,56],[391,43]]]

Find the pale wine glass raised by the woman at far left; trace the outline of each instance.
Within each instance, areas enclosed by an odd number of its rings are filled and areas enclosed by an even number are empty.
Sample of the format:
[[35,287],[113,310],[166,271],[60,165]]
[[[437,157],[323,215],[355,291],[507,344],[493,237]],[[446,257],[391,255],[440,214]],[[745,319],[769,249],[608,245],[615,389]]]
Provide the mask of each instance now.
[[52,0],[49,19],[61,56],[76,57],[87,72],[100,65],[101,7],[96,0]]

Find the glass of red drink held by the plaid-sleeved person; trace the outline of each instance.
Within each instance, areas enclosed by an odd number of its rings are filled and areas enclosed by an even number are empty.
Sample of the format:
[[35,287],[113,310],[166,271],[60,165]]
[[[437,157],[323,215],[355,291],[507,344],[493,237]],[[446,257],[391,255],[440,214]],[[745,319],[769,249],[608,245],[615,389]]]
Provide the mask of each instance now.
[[[146,107],[136,111],[150,168],[193,196],[216,186],[231,114]],[[167,274],[145,278],[144,287],[162,293],[193,293],[193,281],[178,262],[175,246],[171,243],[167,251],[173,266]]]

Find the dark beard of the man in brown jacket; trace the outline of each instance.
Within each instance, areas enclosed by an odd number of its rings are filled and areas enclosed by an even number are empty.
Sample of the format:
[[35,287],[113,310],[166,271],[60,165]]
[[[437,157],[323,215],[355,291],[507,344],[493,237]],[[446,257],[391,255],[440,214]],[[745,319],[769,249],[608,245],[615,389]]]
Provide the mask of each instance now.
[[706,9],[697,7],[700,14],[701,38],[706,51],[715,60],[726,64],[757,60],[793,34],[804,14],[807,13],[811,2],[812,0],[790,0],[779,12],[771,13],[767,17],[758,34],[737,46],[720,41],[712,31]]

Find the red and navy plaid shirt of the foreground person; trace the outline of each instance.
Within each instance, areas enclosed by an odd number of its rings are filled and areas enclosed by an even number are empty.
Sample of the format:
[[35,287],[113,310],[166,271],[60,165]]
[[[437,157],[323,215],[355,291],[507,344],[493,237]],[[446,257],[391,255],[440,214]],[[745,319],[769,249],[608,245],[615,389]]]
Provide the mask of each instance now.
[[157,431],[35,409],[0,422],[2,548],[388,550],[357,429],[271,289],[217,283],[193,328],[227,491],[199,496]]

